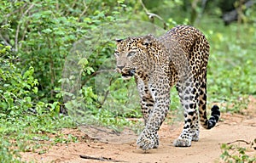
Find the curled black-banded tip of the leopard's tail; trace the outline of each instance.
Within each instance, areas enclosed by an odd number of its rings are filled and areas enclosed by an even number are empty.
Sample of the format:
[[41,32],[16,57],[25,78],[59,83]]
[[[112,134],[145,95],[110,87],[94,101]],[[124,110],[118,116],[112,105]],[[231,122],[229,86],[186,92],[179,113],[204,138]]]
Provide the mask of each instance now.
[[220,111],[219,111],[218,106],[213,105],[211,111],[212,111],[212,113],[211,113],[211,117],[209,119],[207,119],[206,115],[203,115],[204,118],[201,119],[201,124],[206,129],[211,129],[213,126],[216,125],[216,123],[219,120]]

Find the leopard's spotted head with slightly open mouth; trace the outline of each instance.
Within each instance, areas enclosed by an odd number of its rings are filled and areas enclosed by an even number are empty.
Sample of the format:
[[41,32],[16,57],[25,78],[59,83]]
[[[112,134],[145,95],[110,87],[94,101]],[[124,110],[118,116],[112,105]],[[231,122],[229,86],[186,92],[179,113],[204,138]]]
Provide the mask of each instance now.
[[148,48],[154,41],[154,36],[128,37],[116,40],[117,48],[114,52],[116,70],[123,79],[130,79],[138,69],[147,64]]

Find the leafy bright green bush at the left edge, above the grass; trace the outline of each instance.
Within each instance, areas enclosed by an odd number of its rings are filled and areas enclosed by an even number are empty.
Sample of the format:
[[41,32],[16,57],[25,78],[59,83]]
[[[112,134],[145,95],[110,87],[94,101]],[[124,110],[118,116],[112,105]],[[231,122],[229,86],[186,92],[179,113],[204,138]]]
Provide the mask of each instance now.
[[16,67],[18,57],[9,56],[10,47],[0,44],[0,48],[0,53],[7,57],[0,58],[0,116],[5,119],[7,116],[20,116],[32,109],[32,97],[38,93],[38,80],[33,77],[32,67],[23,72]]

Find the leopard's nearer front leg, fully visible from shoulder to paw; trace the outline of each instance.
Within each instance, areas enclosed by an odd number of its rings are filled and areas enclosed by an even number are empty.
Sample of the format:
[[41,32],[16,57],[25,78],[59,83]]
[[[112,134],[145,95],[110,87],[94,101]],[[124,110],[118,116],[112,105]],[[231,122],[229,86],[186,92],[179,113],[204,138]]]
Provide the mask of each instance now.
[[154,99],[152,110],[147,124],[137,139],[139,148],[147,150],[159,145],[158,130],[165,120],[170,104],[170,85],[167,77],[156,77],[148,82],[150,93]]

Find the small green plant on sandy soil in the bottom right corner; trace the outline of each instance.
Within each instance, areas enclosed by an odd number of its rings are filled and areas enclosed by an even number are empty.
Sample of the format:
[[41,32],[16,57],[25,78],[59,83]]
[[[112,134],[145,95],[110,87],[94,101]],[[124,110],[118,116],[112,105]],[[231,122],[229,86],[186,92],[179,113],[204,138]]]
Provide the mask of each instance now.
[[222,149],[222,155],[220,155],[221,159],[224,160],[225,162],[236,162],[236,163],[242,163],[242,162],[247,162],[247,163],[253,163],[256,161],[256,156],[255,155],[247,155],[247,149],[240,147],[238,145],[227,145],[223,143],[221,145]]

